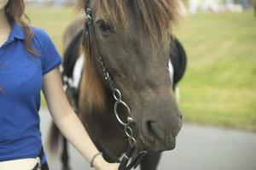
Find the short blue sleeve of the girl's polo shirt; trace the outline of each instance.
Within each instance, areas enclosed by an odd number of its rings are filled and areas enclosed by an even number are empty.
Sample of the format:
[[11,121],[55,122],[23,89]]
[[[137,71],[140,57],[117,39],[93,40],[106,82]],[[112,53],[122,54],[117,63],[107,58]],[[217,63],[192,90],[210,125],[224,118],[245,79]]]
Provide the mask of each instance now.
[[42,56],[43,75],[61,65],[61,55],[55,48],[49,35],[45,32],[44,51]]

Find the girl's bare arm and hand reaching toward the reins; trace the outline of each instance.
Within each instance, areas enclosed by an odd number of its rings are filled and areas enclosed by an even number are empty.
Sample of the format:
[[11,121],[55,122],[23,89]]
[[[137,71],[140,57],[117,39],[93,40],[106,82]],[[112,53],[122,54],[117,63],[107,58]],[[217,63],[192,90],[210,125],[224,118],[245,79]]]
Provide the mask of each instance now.
[[[44,75],[43,92],[56,126],[82,156],[90,162],[99,151],[67,101],[62,88],[59,69],[56,68]],[[100,155],[96,156],[93,164],[99,170],[117,170],[119,167],[119,164],[110,164]]]

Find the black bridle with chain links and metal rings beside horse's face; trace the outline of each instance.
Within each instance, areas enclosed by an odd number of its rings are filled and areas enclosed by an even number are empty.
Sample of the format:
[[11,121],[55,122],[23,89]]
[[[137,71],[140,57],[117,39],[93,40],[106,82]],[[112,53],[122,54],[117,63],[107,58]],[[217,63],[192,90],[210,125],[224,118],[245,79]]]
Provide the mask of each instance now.
[[[88,3],[87,3],[88,4]],[[118,120],[118,122],[124,127],[125,135],[129,140],[129,145],[127,150],[125,151],[125,155],[122,157],[120,161],[119,170],[130,170],[131,168],[136,168],[140,162],[143,160],[143,157],[148,154],[146,150],[140,151],[136,156],[137,149],[137,140],[134,138],[134,133],[131,128],[131,124],[135,123],[133,118],[131,117],[131,110],[129,105],[125,103],[122,99],[122,94],[113,82],[113,79],[110,77],[109,72],[105,66],[103,56],[101,51],[99,50],[99,46],[96,41],[96,32],[94,27],[93,14],[90,8],[84,8],[85,10],[85,22],[84,22],[84,40],[83,44],[87,44],[89,47],[89,55],[90,61],[92,59],[92,46],[91,43],[94,41],[96,43],[96,50],[98,54],[96,55],[96,65],[99,67],[101,71],[104,82],[108,85],[108,88],[111,90],[114,99],[114,114]],[[126,120],[123,121],[119,116],[119,107],[123,107],[126,112]]]

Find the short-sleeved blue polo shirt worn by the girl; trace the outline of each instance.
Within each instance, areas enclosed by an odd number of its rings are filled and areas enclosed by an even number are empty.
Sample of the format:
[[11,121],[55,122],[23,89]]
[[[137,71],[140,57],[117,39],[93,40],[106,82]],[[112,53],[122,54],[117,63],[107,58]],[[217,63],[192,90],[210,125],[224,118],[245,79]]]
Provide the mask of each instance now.
[[26,50],[17,23],[0,47],[0,161],[36,157],[42,146],[38,111],[43,77],[61,64],[61,56],[43,29],[32,31],[37,55]]

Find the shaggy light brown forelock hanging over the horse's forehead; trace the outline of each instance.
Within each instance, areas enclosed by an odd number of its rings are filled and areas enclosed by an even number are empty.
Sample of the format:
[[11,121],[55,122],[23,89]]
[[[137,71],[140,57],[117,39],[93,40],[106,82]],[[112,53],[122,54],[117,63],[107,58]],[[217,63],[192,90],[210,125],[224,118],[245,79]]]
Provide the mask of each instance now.
[[[77,7],[86,8],[87,1],[79,0]],[[129,16],[135,14],[137,27],[143,28],[152,45],[170,38],[178,18],[177,0],[94,0],[94,3],[97,14],[119,22],[125,29],[129,28]]]

